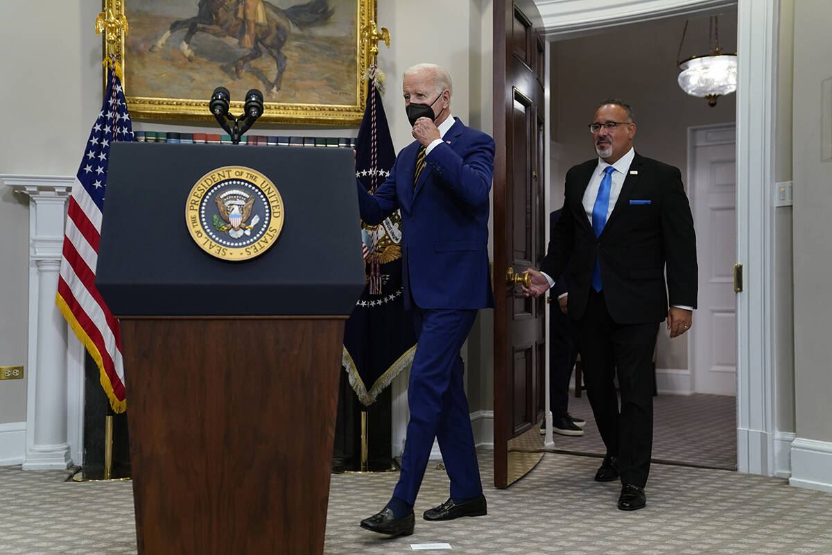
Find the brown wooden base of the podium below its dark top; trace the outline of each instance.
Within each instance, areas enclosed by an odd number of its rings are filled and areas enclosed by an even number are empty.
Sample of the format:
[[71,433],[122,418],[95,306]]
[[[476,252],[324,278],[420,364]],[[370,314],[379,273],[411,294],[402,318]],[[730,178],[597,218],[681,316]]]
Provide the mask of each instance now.
[[140,555],[323,552],[344,320],[121,319]]

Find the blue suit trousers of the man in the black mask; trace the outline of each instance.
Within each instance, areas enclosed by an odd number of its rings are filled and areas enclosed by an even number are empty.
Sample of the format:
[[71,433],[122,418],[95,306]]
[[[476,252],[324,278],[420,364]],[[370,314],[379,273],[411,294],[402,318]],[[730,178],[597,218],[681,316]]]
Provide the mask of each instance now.
[[477,497],[483,493],[483,484],[459,354],[477,310],[414,307],[413,314],[418,345],[408,386],[410,421],[393,495],[414,504],[436,438],[451,481],[451,497]]

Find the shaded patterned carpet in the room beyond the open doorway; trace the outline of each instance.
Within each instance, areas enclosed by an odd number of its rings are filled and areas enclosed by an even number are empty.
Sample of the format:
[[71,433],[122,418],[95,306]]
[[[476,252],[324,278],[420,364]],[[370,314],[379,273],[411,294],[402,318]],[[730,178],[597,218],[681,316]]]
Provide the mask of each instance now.
[[[604,455],[587,395],[569,397],[569,412],[587,421],[582,436],[552,435],[556,453]],[[736,469],[736,399],[726,395],[653,398],[653,460]]]

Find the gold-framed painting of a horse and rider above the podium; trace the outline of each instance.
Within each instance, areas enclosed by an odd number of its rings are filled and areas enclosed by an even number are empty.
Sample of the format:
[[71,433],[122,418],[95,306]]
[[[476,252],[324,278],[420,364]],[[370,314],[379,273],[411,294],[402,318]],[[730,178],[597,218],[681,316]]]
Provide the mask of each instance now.
[[[126,17],[121,38],[104,40],[124,70],[134,118],[213,119],[215,87],[243,111],[263,92],[260,121],[358,125],[364,72],[374,44],[376,0],[103,0]],[[236,100],[235,100],[236,99]]]

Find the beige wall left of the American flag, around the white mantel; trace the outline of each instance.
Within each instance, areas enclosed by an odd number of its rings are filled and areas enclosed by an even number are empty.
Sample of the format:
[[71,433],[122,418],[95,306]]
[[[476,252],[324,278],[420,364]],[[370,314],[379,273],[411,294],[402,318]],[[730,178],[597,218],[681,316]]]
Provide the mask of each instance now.
[[[5,9],[0,173],[71,176],[101,105],[101,74],[89,78],[101,67],[94,30],[101,6],[32,0]],[[37,32],[22,22],[37,22]],[[0,186],[0,365],[26,364],[28,373],[27,206],[26,197]],[[26,395],[25,379],[0,381],[0,424],[26,420]]]

